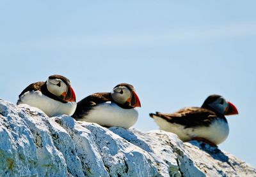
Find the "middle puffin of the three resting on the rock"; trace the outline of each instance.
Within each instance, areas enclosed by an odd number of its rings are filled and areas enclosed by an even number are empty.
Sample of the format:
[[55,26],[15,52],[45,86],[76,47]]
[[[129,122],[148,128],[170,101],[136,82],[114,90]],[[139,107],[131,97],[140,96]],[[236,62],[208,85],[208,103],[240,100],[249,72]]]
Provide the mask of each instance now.
[[104,127],[129,129],[138,120],[136,107],[141,103],[134,87],[120,83],[111,92],[95,93],[79,101],[72,117]]

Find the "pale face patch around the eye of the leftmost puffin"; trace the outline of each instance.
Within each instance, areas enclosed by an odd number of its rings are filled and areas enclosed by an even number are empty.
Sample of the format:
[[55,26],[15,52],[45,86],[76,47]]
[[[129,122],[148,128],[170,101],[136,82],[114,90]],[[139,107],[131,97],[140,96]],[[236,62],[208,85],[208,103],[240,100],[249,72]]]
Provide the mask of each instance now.
[[47,89],[49,92],[56,96],[61,96],[63,92],[67,92],[67,85],[60,79],[48,79],[46,81]]

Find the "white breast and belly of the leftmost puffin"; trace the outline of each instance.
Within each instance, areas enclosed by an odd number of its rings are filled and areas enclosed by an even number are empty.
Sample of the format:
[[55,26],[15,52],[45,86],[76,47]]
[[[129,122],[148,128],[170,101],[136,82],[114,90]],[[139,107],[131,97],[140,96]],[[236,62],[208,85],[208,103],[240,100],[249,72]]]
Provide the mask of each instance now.
[[17,104],[29,104],[29,106],[39,108],[49,117],[73,115],[76,110],[76,102],[61,103],[45,96],[38,90],[24,93]]

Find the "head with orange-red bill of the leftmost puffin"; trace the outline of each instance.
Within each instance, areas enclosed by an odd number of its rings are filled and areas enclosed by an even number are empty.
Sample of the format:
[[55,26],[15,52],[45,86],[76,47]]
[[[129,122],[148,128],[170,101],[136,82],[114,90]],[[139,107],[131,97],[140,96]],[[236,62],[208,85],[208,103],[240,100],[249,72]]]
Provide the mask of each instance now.
[[55,96],[60,97],[61,100],[67,102],[75,102],[76,94],[70,85],[68,78],[54,74],[49,76],[46,81],[47,89]]

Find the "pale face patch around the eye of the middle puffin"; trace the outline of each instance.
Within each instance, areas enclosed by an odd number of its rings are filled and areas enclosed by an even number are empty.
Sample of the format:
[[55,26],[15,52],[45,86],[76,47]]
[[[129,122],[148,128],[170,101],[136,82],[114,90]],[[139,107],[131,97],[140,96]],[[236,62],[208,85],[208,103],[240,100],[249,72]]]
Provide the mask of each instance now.
[[116,87],[112,90],[111,96],[116,103],[124,104],[127,99],[131,98],[131,91],[124,86]]

